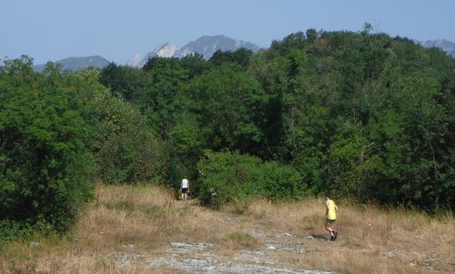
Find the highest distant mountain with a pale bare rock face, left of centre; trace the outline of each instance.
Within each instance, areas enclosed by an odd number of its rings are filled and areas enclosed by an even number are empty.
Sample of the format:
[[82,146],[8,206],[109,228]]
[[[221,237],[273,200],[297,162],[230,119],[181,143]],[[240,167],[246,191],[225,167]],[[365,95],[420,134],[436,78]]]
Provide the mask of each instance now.
[[155,56],[181,58],[194,53],[199,53],[204,59],[208,60],[217,50],[236,51],[242,47],[250,49],[253,52],[259,50],[259,46],[255,44],[236,40],[227,36],[201,36],[197,40],[191,41],[181,48],[174,44],[167,43],[163,46],[158,46],[146,56],[142,57],[140,54],[136,54],[136,56],[129,60],[126,65],[142,67],[147,63],[149,58]]

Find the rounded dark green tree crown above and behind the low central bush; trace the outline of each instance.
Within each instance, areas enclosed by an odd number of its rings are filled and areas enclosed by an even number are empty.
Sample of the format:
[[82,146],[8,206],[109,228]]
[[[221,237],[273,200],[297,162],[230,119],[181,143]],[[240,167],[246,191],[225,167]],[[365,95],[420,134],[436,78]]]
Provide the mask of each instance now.
[[262,138],[258,121],[267,96],[253,78],[221,66],[195,77],[185,86],[184,96],[209,148],[243,152],[258,147]]

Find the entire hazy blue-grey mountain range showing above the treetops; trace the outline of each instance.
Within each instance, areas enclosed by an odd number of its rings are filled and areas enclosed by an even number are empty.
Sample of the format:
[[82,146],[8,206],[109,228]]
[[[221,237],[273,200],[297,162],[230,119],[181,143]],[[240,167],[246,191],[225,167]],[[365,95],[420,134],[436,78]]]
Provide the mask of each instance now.
[[[441,40],[428,40],[425,42],[414,41],[414,43],[423,47],[440,47],[448,55],[455,57],[455,43],[441,39]],[[147,60],[151,57],[184,57],[193,53],[200,53],[204,59],[208,60],[217,50],[221,51],[236,51],[239,48],[247,48],[253,52],[259,50],[259,46],[229,38],[227,36],[201,36],[195,41],[187,43],[183,47],[178,47],[171,43],[166,43],[162,46],[158,46],[153,51],[143,56],[142,54],[136,54],[130,60],[126,62],[126,66],[142,67],[147,63]],[[110,62],[101,56],[88,56],[88,57],[70,57],[63,60],[54,62],[63,66],[65,70],[77,71],[86,67],[96,67],[102,69],[107,66]],[[34,66],[36,71],[43,71],[45,65]]]

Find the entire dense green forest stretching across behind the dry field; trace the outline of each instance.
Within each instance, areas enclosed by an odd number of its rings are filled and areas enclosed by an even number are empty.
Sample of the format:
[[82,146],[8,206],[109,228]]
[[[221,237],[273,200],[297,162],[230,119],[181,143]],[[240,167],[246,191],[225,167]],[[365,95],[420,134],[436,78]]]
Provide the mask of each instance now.
[[0,238],[70,228],[97,182],[177,188],[183,175],[214,208],[331,191],[452,209],[454,96],[455,59],[368,24],[142,68],[4,60]]

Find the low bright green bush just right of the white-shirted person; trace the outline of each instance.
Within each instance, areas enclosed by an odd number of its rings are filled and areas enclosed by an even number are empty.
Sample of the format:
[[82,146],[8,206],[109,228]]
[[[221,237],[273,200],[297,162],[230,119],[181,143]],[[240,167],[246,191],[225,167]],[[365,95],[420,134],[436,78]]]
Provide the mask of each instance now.
[[293,167],[238,153],[207,150],[197,168],[202,174],[197,192],[213,208],[250,198],[298,199],[307,189]]

